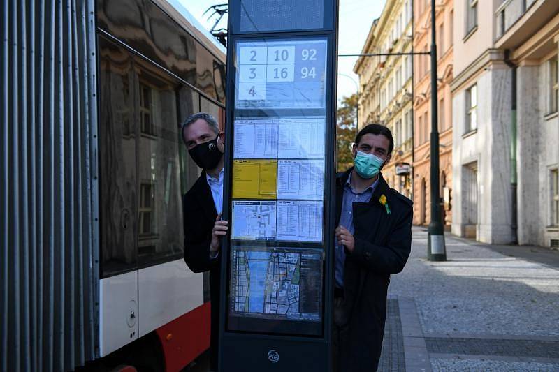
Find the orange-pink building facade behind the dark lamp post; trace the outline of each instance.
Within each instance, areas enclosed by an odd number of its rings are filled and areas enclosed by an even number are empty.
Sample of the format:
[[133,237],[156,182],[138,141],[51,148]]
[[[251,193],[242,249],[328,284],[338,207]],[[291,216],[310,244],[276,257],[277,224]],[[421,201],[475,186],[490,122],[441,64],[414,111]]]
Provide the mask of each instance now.
[[[429,52],[431,45],[430,0],[414,1],[414,52]],[[437,108],[440,143],[440,195],[445,228],[452,221],[452,98],[453,0],[439,0],[435,8],[437,40]],[[414,57],[414,224],[430,223],[430,56]]]

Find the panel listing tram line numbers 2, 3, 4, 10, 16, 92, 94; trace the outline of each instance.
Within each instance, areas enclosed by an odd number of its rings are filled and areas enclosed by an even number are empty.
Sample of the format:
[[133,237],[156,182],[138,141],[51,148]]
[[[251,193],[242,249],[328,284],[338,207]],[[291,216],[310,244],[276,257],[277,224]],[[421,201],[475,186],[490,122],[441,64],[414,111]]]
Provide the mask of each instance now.
[[237,43],[235,107],[324,108],[326,40]]

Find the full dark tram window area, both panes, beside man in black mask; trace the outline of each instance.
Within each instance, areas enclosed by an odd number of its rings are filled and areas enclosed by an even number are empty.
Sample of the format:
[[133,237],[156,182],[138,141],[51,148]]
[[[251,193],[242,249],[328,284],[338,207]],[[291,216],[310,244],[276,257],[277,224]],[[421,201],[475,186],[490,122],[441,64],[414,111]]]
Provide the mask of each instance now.
[[102,37],[99,50],[101,276],[107,277],[182,258],[182,195],[197,168],[183,149],[180,121],[182,107],[198,112],[200,98]]

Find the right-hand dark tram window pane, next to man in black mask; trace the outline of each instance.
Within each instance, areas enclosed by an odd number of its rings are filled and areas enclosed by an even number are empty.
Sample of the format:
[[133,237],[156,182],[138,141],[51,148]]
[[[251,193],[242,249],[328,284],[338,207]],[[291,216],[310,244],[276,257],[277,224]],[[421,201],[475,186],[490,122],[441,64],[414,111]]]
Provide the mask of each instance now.
[[[152,68],[139,71],[140,117],[149,109],[151,126],[138,139],[137,156],[138,266],[147,267],[182,257],[181,139],[177,82]],[[142,96],[150,100],[145,111]]]

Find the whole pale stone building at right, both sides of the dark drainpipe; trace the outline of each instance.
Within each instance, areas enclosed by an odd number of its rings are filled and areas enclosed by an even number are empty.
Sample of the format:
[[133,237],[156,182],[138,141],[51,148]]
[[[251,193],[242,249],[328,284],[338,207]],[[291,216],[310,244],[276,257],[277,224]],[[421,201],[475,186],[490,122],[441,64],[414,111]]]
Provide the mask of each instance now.
[[452,232],[559,245],[559,1],[454,5]]

